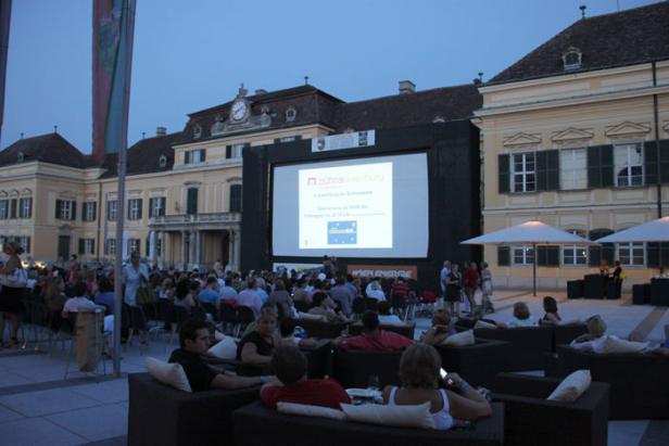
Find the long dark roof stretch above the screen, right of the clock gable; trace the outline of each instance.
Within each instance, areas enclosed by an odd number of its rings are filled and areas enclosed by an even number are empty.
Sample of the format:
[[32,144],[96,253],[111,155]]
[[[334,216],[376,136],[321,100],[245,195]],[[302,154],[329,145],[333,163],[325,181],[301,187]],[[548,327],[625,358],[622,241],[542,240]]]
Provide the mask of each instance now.
[[339,104],[335,124],[337,131],[343,131],[457,120],[472,116],[481,105],[478,86],[468,84]]

